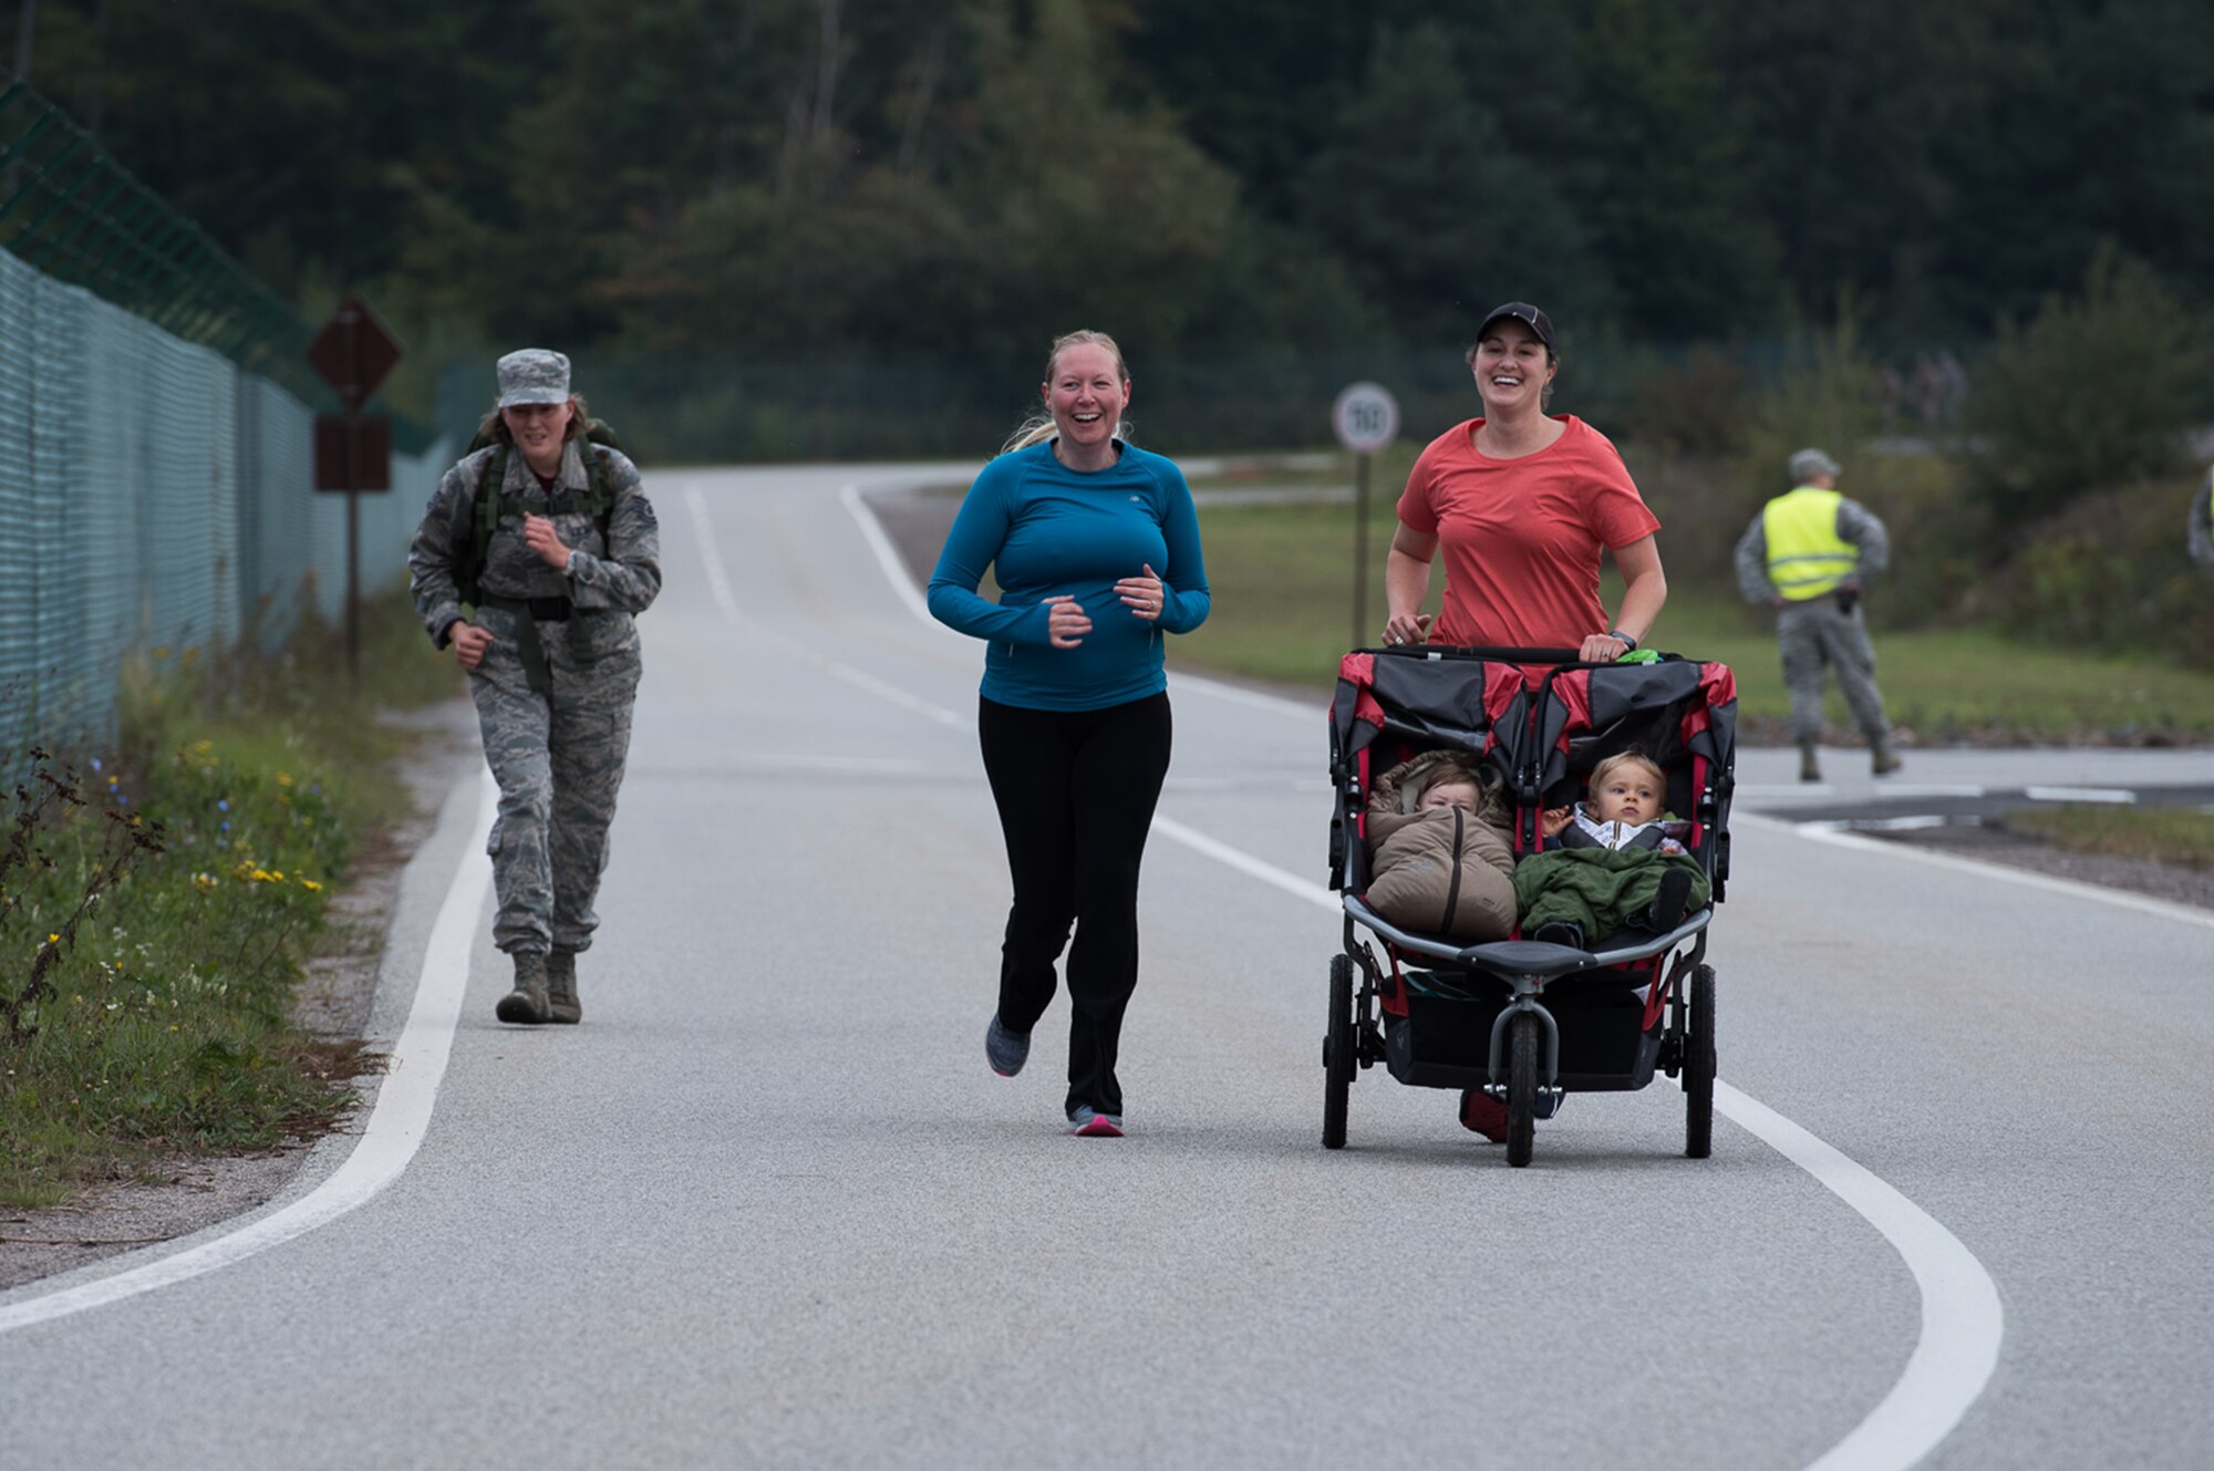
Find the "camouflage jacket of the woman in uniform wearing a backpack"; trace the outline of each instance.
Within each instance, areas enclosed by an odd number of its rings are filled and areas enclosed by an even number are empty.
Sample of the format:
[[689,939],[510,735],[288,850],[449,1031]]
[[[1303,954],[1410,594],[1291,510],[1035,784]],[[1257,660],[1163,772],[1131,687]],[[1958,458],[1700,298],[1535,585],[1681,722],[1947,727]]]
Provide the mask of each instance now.
[[[578,611],[642,614],[662,592],[662,534],[646,501],[644,485],[620,450],[571,439],[562,445],[558,492],[589,490],[582,454],[604,454],[615,505],[607,514],[607,538],[600,523],[584,512],[554,516],[554,529],[569,545],[569,572],[556,572],[523,541],[523,514],[545,514],[547,492],[523,461],[520,450],[507,454],[503,498],[514,510],[500,516],[485,552],[483,592],[494,598],[569,598]],[[407,585],[414,594],[423,629],[441,649],[449,642],[445,629],[467,618],[454,569],[472,554],[472,518],[476,487],[492,463],[492,450],[465,456],[438,481],[414,543],[407,547]]]

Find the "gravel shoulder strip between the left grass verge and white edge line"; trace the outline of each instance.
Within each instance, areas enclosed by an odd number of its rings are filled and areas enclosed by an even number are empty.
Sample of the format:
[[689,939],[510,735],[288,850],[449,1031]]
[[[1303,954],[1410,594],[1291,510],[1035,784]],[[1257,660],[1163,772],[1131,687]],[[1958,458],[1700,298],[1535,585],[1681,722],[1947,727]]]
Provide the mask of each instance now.
[[[401,767],[414,815],[372,833],[352,882],[332,895],[330,948],[310,961],[294,1001],[294,1019],[325,1037],[365,1032],[401,873],[436,826],[445,795],[483,764],[476,711],[465,698],[387,720],[418,735]],[[283,1192],[312,1145],[294,1139],[266,1154],[179,1156],[164,1161],[153,1179],[95,1185],[66,1207],[0,1214],[0,1289],[250,1212]]]

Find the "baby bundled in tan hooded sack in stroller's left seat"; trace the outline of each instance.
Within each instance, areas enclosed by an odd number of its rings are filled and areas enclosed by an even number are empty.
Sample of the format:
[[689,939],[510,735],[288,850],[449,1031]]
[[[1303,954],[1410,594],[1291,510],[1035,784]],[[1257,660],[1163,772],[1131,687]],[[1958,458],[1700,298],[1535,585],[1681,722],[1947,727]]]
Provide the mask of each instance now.
[[1455,939],[1514,933],[1514,853],[1494,769],[1463,751],[1424,751],[1368,798],[1368,904],[1410,930]]

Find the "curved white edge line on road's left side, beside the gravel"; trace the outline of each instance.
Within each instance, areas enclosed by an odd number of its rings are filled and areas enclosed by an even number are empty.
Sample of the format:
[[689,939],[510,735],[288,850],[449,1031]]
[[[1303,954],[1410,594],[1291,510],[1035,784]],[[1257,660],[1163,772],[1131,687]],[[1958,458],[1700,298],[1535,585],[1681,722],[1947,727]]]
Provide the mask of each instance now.
[[368,1123],[361,1125],[361,1139],[345,1163],[299,1201],[215,1241],[80,1287],[9,1303],[0,1307],[0,1334],[120,1303],[246,1261],[337,1221],[401,1176],[430,1128],[432,1103],[438,1101],[445,1061],[454,1050],[454,1023],[461,1019],[461,997],[469,984],[469,950],[474,948],[478,913],[485,906],[485,891],[492,886],[485,837],[492,833],[492,815],[498,804],[500,789],[494,784],[492,771],[485,771],[478,786],[476,824],[467,848],[463,848],[461,871],[454,873],[454,884],[438,906],[436,922],[432,922],[430,948],[423,953],[423,975],[416,979],[407,1023],[392,1046],[392,1063],[385,1070],[385,1081],[376,1088],[376,1105],[370,1110]]

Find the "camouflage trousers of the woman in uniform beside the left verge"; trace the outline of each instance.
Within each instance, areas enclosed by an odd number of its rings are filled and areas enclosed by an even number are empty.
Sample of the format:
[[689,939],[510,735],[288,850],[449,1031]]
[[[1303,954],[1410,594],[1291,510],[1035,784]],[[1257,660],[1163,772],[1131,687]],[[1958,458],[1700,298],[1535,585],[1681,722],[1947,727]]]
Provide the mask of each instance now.
[[560,623],[538,627],[547,689],[531,687],[516,620],[483,614],[494,645],[469,673],[485,760],[500,786],[492,824],[492,939],[503,950],[584,950],[607,871],[607,829],[631,753],[638,636],[580,665]]

